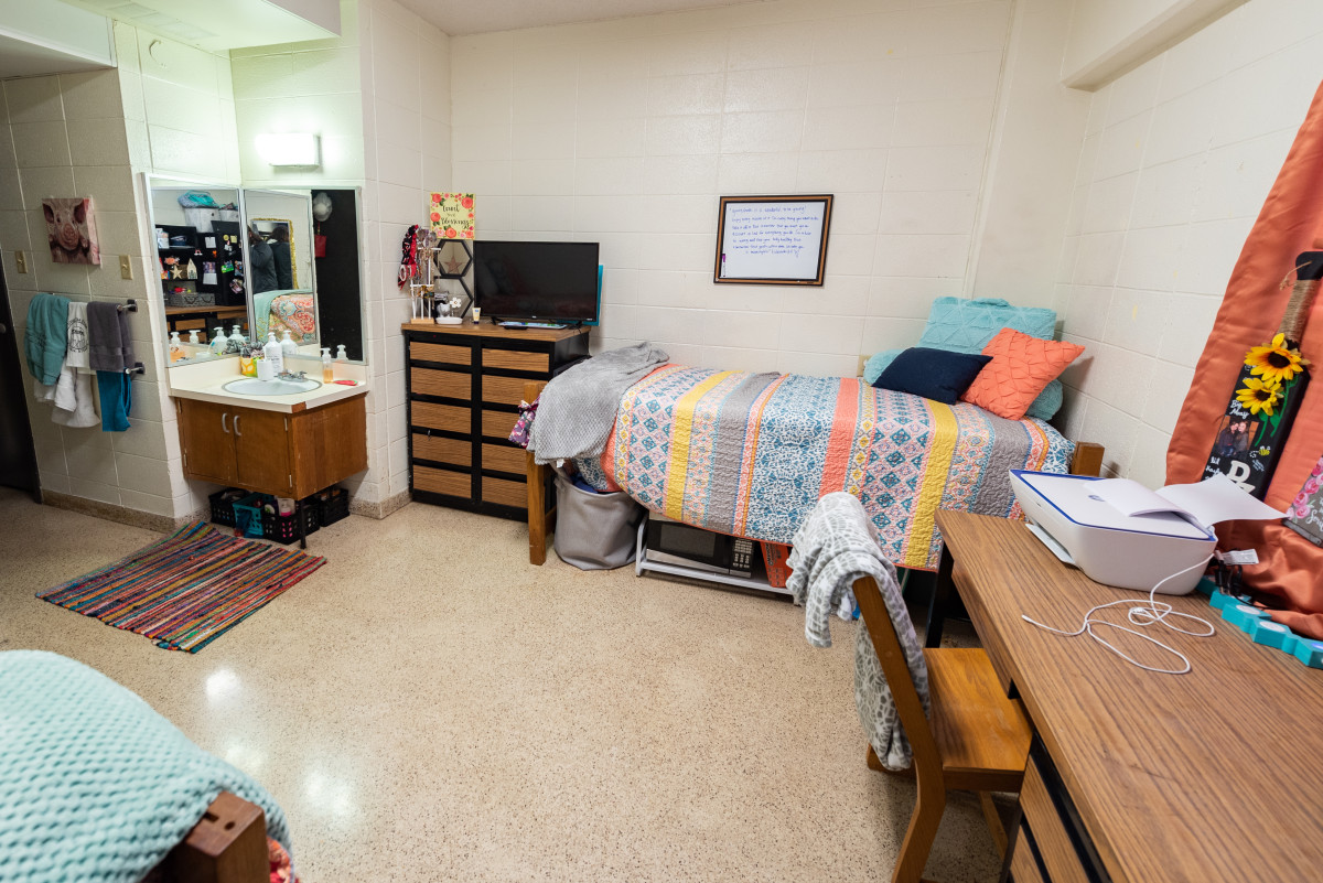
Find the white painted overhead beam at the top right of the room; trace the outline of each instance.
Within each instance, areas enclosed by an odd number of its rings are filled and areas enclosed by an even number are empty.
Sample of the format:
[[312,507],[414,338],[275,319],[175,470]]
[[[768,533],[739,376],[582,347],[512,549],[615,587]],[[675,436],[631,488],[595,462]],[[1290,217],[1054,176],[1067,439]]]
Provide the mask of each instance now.
[[1095,90],[1245,0],[1074,0],[1061,81]]

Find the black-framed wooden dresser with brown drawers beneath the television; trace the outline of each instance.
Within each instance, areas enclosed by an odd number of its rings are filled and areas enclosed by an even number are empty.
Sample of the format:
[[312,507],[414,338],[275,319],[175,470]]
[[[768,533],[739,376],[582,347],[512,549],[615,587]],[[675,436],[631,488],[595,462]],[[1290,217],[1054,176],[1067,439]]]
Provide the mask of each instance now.
[[589,329],[402,328],[413,498],[527,519],[525,455],[508,439],[524,383],[587,356]]

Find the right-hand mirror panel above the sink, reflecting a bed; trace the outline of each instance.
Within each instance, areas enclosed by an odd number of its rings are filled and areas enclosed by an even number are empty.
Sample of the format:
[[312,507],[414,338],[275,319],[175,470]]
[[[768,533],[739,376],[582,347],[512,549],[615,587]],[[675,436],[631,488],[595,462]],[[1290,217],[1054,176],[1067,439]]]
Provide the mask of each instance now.
[[241,205],[253,338],[287,330],[300,354],[344,345],[363,362],[359,192],[245,189]]

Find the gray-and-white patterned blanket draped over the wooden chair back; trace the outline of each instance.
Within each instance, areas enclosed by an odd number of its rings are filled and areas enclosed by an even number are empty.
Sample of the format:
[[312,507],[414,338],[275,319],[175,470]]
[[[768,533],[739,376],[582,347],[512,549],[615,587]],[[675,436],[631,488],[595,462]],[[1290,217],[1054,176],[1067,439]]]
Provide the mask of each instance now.
[[[919,646],[914,624],[901,599],[896,567],[882,558],[863,504],[844,492],[830,493],[819,500],[795,531],[794,549],[786,563],[791,568],[786,587],[795,604],[804,607],[804,637],[814,646],[831,646],[831,613],[839,609],[840,617],[848,619],[847,611],[855,607],[855,580],[868,575],[877,582],[914,679],[914,689],[923,703],[923,714],[927,714],[927,664],[923,661],[923,648]],[[909,739],[905,738],[892,690],[882,674],[882,664],[877,660],[864,623],[855,627],[855,709],[864,726],[864,735],[882,765],[888,769],[908,769],[913,760]]]

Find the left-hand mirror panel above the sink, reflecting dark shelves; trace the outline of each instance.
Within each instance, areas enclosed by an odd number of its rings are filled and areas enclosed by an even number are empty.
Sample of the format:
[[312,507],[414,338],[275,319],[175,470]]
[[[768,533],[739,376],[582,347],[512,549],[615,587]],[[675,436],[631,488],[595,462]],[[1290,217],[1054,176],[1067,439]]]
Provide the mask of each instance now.
[[[247,334],[239,192],[191,178],[146,174],[148,214],[168,332],[180,348],[164,349],[168,365],[235,356],[229,337]],[[216,328],[226,345],[213,352]],[[196,337],[196,342],[191,342]]]

